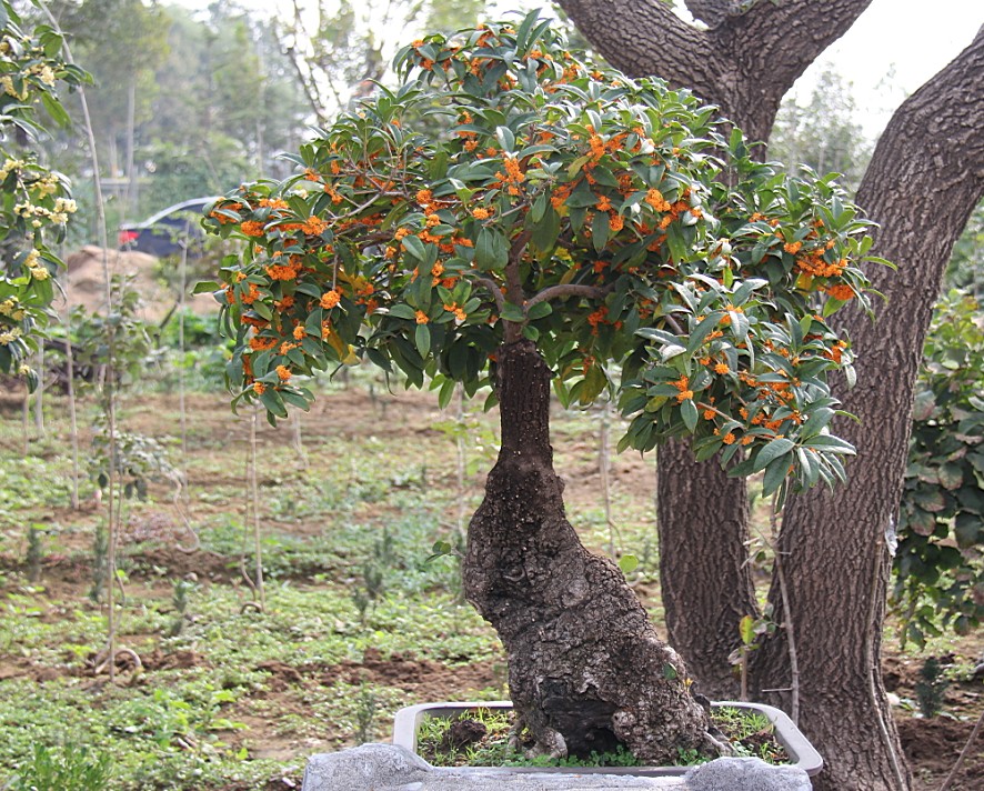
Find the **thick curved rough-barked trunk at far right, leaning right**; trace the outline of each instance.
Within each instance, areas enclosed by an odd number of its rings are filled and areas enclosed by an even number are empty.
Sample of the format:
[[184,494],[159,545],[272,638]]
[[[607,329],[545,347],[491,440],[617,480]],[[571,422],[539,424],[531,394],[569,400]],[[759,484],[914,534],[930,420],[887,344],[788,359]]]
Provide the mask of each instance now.
[[[897,273],[883,267],[870,273],[888,298],[877,306],[876,323],[859,311],[845,317],[859,384],[841,398],[861,423],[835,428],[855,444],[857,459],[847,484],[833,494],[816,490],[791,500],[780,542],[795,640],[805,649],[797,657],[800,725],[820,744],[837,745],[819,789],[907,785],[880,672],[888,544],[933,303],[953,243],[984,194],[982,129],[984,28],[898,109],[857,194],[881,224],[874,250],[898,267]],[[770,599],[776,618],[784,618],[775,584]],[[754,660],[760,688],[790,685],[785,633]],[[790,694],[780,701],[789,704]],[[843,734],[861,732],[876,734],[882,749],[850,749]]]

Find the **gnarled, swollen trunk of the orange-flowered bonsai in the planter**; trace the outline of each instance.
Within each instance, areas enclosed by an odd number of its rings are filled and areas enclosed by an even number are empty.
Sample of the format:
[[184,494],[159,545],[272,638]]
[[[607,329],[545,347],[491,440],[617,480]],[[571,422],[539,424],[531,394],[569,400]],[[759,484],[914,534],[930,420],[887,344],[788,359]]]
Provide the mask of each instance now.
[[702,749],[707,714],[610,560],[564,515],[550,445],[550,371],[534,344],[500,348],[502,448],[469,527],[464,589],[499,632],[519,719],[539,752],[619,743],[649,762]]

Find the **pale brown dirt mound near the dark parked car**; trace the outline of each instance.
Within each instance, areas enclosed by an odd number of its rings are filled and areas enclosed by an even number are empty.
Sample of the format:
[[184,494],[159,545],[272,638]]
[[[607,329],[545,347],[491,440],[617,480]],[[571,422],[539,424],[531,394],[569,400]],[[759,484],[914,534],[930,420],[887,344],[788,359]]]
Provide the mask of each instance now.
[[[174,287],[177,277],[165,277],[161,271],[160,259],[142,252],[103,250],[87,244],[66,258],[68,279],[64,283],[66,297],[57,303],[60,311],[82,306],[90,312],[102,311],[106,306],[106,271],[113,274],[133,274],[134,287],[140,292],[140,318],[148,322],[160,322],[178,301]],[[177,264],[169,264],[177,266]],[[219,306],[210,294],[188,297],[189,308],[199,314],[214,313]]]

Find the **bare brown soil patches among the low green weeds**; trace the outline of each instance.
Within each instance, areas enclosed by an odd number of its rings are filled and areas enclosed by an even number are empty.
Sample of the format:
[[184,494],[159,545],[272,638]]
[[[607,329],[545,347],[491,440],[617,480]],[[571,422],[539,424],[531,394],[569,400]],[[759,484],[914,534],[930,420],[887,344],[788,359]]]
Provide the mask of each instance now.
[[[167,405],[167,397],[141,397],[138,404],[127,408],[128,429],[150,435],[174,433],[173,403]],[[171,397],[171,402],[173,397]],[[207,458],[217,449],[243,449],[249,439],[249,422],[229,413],[227,402],[221,394],[188,397],[189,414],[194,415],[190,427],[193,441],[189,452],[194,458]],[[374,417],[374,418],[373,418]],[[20,419],[20,401],[13,394],[0,399],[0,418],[10,421]],[[390,393],[385,389],[376,389],[373,395],[359,388],[320,397],[310,414],[304,415],[304,442],[309,452],[315,452],[325,443],[344,440],[353,448],[371,441],[374,434],[385,433],[385,441],[391,447],[413,448],[418,443],[449,443],[432,424],[448,419],[438,411],[435,399],[431,393]],[[491,418],[490,418],[491,420]],[[83,438],[83,442],[86,439]],[[274,433],[265,423],[260,425],[258,441],[261,447],[283,443],[284,432]],[[565,479],[564,497],[572,504],[596,504],[599,499],[600,475],[598,465],[590,461],[588,451],[596,448],[591,435],[570,437],[554,440],[558,449],[556,467]],[[572,445],[580,444],[581,452],[575,454]],[[3,452],[20,453],[20,449],[8,443],[0,443]],[[445,447],[451,447],[445,444]],[[576,455],[579,461],[568,463]],[[589,459],[589,461],[585,461]],[[192,481],[195,492],[208,492],[217,487],[241,485],[242,478],[235,470],[214,465],[210,471],[198,475]],[[283,472],[283,475],[291,474]],[[453,485],[453,454],[449,453],[449,464],[440,469],[426,471],[432,485]],[[640,459],[637,454],[612,457],[611,479],[616,495],[631,495],[639,501],[651,501],[653,485],[653,465],[650,459]],[[275,487],[275,478],[261,477],[260,485]],[[482,484],[479,474],[471,481],[473,491]],[[59,523],[77,525],[74,532],[59,537],[59,547],[46,555],[42,563],[43,583],[51,601],[79,597],[90,583],[91,571],[83,560],[79,560],[80,550],[88,550],[91,544],[89,527],[101,518],[103,508],[96,499],[91,499],[91,488],[83,502],[81,512],[72,512],[67,508],[49,508],[38,513],[38,520],[50,520]],[[154,591],[161,579],[193,579],[201,583],[229,582],[240,575],[230,559],[204,551],[182,551],[180,548],[193,549],[194,539],[184,527],[178,512],[169,505],[173,493],[167,485],[154,491],[157,505],[151,509],[138,510],[131,519],[125,541],[150,542],[148,549],[140,550],[131,557],[134,569],[129,585],[133,594],[139,595],[138,588]],[[372,508],[385,512],[384,502],[372,503]],[[210,510],[228,510],[228,505],[212,504],[208,500],[194,501],[199,515]],[[294,519],[274,522],[275,529],[283,533],[311,535],[322,529],[320,519]],[[180,547],[180,548],[179,548]],[[7,545],[7,553],[0,554],[0,569],[8,572],[26,573],[23,565],[24,548]],[[165,573],[155,573],[151,569],[164,569]],[[309,581],[302,575],[298,582]],[[640,589],[654,595],[650,587]],[[157,591],[161,595],[170,595],[167,591]],[[58,612],[49,612],[43,617],[58,618]],[[984,635],[971,635],[958,642],[954,649],[953,661],[963,667],[973,667],[974,662],[984,658]],[[984,679],[966,678],[955,680],[946,692],[944,714],[932,719],[914,717],[905,704],[915,700],[914,685],[921,660],[911,659],[898,652],[893,642],[885,645],[884,670],[890,690],[898,697],[896,709],[898,729],[911,763],[916,791],[936,791],[943,779],[952,769],[960,751],[963,749],[973,729],[976,718],[984,710]],[[208,667],[207,654],[195,651],[165,653],[160,650],[150,651],[141,657],[143,673],[134,677],[134,683],[153,683],[153,674],[161,670],[190,669]],[[0,657],[0,680],[24,678],[36,681],[50,680],[59,674],[78,674],[67,664],[63,668],[39,667],[29,659],[6,654]],[[123,669],[123,668],[121,668]],[[263,695],[267,703],[278,712],[294,714],[299,718],[308,715],[305,691],[323,688],[339,680],[350,684],[363,681],[385,687],[398,688],[406,692],[412,701],[448,700],[460,698],[468,690],[488,688],[500,684],[503,668],[494,662],[478,662],[465,667],[449,667],[440,662],[414,657],[393,655],[383,658],[375,652],[367,652],[359,662],[340,662],[338,664],[303,664],[299,667],[281,662],[265,662],[255,668],[268,675],[267,690]],[[271,720],[262,713],[251,710],[250,704],[237,704],[229,712],[230,719],[249,725],[248,731],[223,734],[233,745],[248,742],[250,753],[255,757],[297,759],[319,749],[337,749],[344,743],[347,733],[333,733],[331,723],[322,725],[319,738],[297,739],[280,735],[272,727]],[[976,742],[975,749],[966,760],[963,771],[951,785],[953,791],[978,791],[984,789],[984,735]]]

